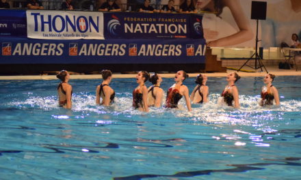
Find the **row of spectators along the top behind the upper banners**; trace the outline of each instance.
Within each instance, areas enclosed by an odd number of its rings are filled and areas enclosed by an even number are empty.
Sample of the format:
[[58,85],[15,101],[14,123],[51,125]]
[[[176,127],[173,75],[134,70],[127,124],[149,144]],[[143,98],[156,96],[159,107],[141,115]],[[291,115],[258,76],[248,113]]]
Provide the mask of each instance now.
[[195,13],[197,0],[0,0],[0,8]]

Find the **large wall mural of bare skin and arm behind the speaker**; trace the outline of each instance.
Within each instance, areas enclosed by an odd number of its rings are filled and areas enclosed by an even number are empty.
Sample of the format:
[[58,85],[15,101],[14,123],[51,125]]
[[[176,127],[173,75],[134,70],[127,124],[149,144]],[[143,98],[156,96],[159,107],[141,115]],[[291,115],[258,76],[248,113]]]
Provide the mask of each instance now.
[[[257,20],[251,19],[252,0],[196,0],[196,9],[205,13],[202,28],[211,47],[254,47]],[[259,46],[279,47],[281,42],[292,45],[291,36],[301,37],[300,0],[261,0],[267,2],[266,19],[259,20]],[[211,1],[212,2],[212,1]],[[198,5],[199,4],[199,5]],[[199,7],[198,7],[199,6]],[[265,11],[260,12],[265,14]],[[300,39],[299,39],[300,41]]]

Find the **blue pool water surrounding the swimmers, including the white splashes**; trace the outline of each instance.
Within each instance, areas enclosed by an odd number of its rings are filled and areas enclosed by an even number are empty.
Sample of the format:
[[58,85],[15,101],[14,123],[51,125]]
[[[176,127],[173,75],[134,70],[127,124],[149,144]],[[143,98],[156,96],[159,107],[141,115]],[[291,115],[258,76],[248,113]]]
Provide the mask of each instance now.
[[257,104],[262,80],[237,82],[239,110],[216,104],[226,81],[209,77],[208,104],[148,113],[131,107],[133,78],[113,80],[109,108],[100,80],[70,80],[73,110],[58,80],[0,80],[0,179],[300,179],[301,77],[276,77],[278,107]]

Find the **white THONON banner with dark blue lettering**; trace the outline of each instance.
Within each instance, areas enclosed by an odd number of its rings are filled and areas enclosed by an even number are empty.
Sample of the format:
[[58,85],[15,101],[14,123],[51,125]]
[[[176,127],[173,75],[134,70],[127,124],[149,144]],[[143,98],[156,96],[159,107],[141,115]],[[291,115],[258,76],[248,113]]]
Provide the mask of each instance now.
[[27,10],[27,37],[44,40],[104,40],[102,12]]

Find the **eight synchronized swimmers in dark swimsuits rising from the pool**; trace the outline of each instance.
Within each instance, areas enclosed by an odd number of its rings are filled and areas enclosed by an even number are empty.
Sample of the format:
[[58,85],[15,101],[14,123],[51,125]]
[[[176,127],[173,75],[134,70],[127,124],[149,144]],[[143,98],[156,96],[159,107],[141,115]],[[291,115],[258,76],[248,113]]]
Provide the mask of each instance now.
[[[112,87],[109,87],[109,83],[112,81],[112,72],[110,70],[101,71],[103,76],[103,82],[96,87],[96,104],[102,104],[109,106],[114,102],[115,91]],[[70,74],[66,70],[62,70],[57,74],[62,82],[57,86],[57,93],[59,96],[59,105],[64,108],[71,108],[72,102],[72,87],[68,84]],[[172,85],[166,95],[166,108],[177,108],[178,102],[184,96],[187,110],[191,111],[191,102],[194,104],[202,104],[208,102],[209,87],[206,85],[207,76],[205,74],[198,74],[196,76],[196,87],[189,96],[189,90],[187,86],[183,85],[184,80],[188,78],[188,74],[181,70],[176,72],[174,76],[174,85]],[[273,74],[266,74],[263,82],[265,86],[261,90],[261,100],[259,104],[276,105],[280,104],[279,95],[276,87],[272,85],[275,76]],[[235,86],[235,82],[240,79],[240,76],[236,72],[232,72],[226,76],[228,85],[222,91],[220,103],[224,103],[227,106],[233,106],[239,108],[239,93]],[[153,85],[146,87],[145,82],[149,80]],[[163,89],[160,85],[162,78],[159,74],[153,74],[150,76],[146,71],[140,71],[136,75],[136,82],[138,87],[133,90],[133,107],[142,111],[148,112],[148,107],[155,106],[160,107],[163,101]]]

